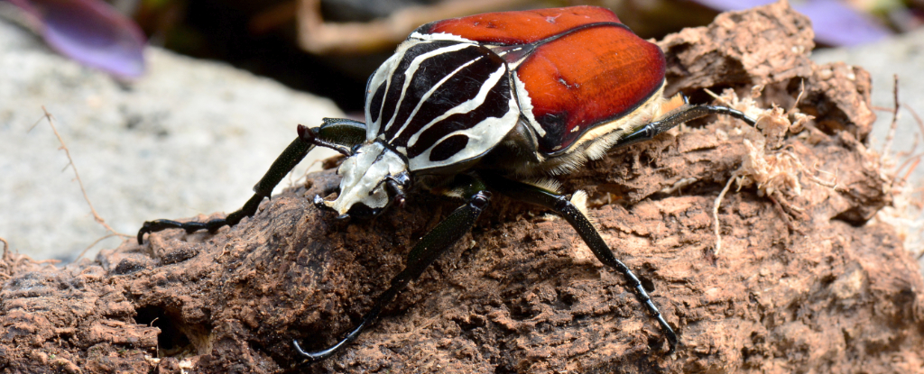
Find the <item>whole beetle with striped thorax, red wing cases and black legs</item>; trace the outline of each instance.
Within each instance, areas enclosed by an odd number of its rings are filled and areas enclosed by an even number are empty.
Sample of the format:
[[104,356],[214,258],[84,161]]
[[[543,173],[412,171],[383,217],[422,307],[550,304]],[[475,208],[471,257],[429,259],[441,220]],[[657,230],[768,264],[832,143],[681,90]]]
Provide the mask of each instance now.
[[412,187],[465,203],[420,239],[403,271],[336,344],[305,352],[293,341],[306,362],[333,356],[356,340],[408,283],[468,233],[492,193],[562,216],[597,259],[625,276],[674,351],[674,329],[588,218],[587,194],[566,196],[548,183],[611,149],[652,139],[705,115],[730,115],[755,125],[728,107],[692,105],[682,94],[665,97],[665,66],[658,46],[602,7],[486,13],[428,23],[369,78],[365,123],[325,118],[319,127],[298,125],[298,138],[240,210],[208,222],[145,222],[138,242],[169,228],[214,233],[239,223],[257,211],[310,150],[327,147],[346,156],[337,169],[342,179],[335,199],[315,196],[314,205],[338,219],[369,218],[390,206],[401,207]]

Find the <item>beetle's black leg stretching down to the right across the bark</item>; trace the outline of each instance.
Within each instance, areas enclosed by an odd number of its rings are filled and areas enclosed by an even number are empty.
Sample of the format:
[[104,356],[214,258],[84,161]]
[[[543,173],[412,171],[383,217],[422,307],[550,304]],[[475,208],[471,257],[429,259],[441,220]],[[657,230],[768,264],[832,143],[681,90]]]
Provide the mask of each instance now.
[[480,176],[485,184],[493,190],[503,193],[512,199],[541,205],[542,207],[557,212],[560,216],[565,218],[565,221],[575,228],[577,234],[584,240],[584,243],[587,243],[587,246],[590,247],[590,250],[597,259],[600,259],[604,265],[622,272],[623,275],[626,276],[626,280],[635,289],[638,299],[648,308],[651,316],[658,320],[658,323],[661,325],[661,330],[671,344],[671,352],[674,351],[677,345],[677,334],[674,332],[674,329],[667,323],[667,320],[664,320],[661,311],[658,310],[658,307],[651,301],[651,297],[648,295],[648,292],[645,291],[645,288],[642,287],[635,273],[629,270],[622,261],[616,259],[613,251],[610,250],[610,247],[603,241],[597,229],[593,227],[593,223],[590,223],[590,219],[588,219],[574,203],[565,199],[564,196],[544,188],[517,182],[500,175],[480,173]]

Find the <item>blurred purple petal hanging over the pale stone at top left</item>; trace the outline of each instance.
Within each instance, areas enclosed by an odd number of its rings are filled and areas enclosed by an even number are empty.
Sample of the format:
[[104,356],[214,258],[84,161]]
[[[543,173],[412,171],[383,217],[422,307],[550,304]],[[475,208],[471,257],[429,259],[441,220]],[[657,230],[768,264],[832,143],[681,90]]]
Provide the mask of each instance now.
[[144,34],[112,6],[100,0],[13,3],[39,19],[45,42],[58,53],[122,78],[144,73]]

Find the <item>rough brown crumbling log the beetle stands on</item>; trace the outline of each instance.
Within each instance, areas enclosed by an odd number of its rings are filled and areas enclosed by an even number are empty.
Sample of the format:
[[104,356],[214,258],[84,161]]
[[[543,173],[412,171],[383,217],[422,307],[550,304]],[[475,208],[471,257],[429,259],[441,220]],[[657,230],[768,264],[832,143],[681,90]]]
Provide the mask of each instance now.
[[[602,235],[679,333],[675,354],[622,276],[563,220],[495,194],[462,243],[358,342],[303,370],[922,371],[918,265],[892,227],[869,221],[891,200],[878,156],[861,141],[873,119],[869,76],[814,66],[808,27],[778,4],[661,42],[674,56],[673,90],[748,96],[760,84],[761,105],[789,108],[804,81],[797,107],[817,116],[773,146],[807,166],[795,174],[800,193],[733,186],[718,214],[719,253],[713,204],[756,133],[739,122],[699,121],[559,178],[565,191],[590,193]],[[310,203],[337,182],[333,170],[309,175],[215,235],[167,230],[64,268],[5,254],[0,368],[291,368],[293,338],[333,343],[459,204],[412,194],[404,210],[337,223]]]

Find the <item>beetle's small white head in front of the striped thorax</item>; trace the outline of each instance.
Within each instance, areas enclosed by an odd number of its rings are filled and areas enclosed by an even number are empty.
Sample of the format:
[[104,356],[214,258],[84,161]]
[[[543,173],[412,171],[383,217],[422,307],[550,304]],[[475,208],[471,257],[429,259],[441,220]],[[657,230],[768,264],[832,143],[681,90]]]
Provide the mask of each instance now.
[[343,176],[340,194],[334,201],[322,203],[342,217],[358,203],[371,212],[382,211],[391,199],[388,189],[403,199],[409,184],[407,161],[378,141],[360,146],[340,164],[337,174]]

